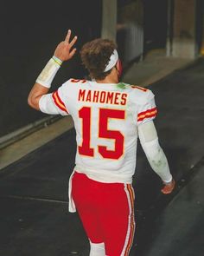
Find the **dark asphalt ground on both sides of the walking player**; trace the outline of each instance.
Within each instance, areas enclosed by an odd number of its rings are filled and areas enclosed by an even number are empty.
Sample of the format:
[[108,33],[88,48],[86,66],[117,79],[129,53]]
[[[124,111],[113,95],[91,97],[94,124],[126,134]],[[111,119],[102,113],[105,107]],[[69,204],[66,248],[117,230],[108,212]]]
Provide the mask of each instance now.
[[[203,255],[203,69],[199,59],[150,86],[160,144],[177,187],[174,194],[161,194],[162,183],[139,147],[131,256]],[[88,255],[77,213],[67,211],[75,148],[71,129],[1,171],[0,255]]]

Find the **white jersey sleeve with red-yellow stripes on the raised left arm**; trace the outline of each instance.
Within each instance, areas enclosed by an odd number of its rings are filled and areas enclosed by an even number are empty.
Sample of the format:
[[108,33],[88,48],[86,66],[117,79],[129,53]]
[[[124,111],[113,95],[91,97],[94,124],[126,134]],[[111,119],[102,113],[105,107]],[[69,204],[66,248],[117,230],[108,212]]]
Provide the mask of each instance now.
[[66,102],[63,101],[63,93],[65,86],[62,85],[58,90],[52,94],[42,95],[39,108],[41,112],[49,115],[69,115]]

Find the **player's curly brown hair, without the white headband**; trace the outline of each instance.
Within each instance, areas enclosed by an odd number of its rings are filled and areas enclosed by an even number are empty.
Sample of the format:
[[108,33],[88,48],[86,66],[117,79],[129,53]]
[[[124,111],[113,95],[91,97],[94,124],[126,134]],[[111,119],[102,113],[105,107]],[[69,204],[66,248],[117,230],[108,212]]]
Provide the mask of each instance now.
[[112,72],[112,69],[104,70],[114,49],[117,49],[116,43],[108,39],[98,38],[84,44],[80,57],[92,78],[103,80]]

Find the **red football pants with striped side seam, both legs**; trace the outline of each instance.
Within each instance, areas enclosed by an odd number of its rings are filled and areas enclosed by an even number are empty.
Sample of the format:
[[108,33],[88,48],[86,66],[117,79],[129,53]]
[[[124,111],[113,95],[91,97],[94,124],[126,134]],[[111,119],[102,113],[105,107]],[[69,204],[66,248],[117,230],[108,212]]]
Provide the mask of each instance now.
[[131,184],[92,181],[73,174],[73,201],[92,243],[105,243],[105,255],[129,255],[135,231]]

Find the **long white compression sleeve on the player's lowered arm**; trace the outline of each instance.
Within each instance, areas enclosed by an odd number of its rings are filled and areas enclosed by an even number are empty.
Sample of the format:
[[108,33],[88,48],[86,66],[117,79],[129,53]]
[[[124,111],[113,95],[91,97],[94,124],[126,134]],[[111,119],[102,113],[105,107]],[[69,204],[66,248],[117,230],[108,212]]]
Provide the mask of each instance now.
[[163,149],[159,145],[154,122],[149,121],[138,126],[138,135],[152,169],[160,176],[163,182],[169,183],[172,181],[169,164]]

